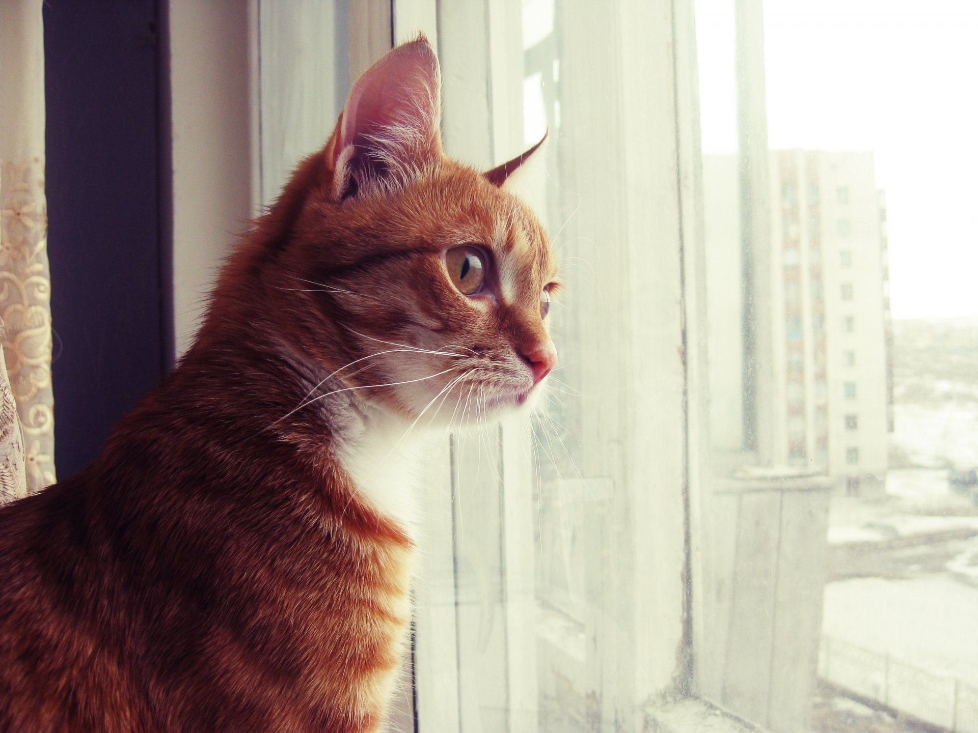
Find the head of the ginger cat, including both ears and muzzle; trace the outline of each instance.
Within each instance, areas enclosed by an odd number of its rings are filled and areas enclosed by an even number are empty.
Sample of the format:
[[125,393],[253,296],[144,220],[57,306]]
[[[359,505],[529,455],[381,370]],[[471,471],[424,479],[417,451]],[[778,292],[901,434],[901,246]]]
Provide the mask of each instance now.
[[539,144],[488,172],[450,160],[439,96],[423,37],[388,53],[260,226],[307,353],[378,407],[466,424],[532,403],[556,365],[556,257],[509,187]]

